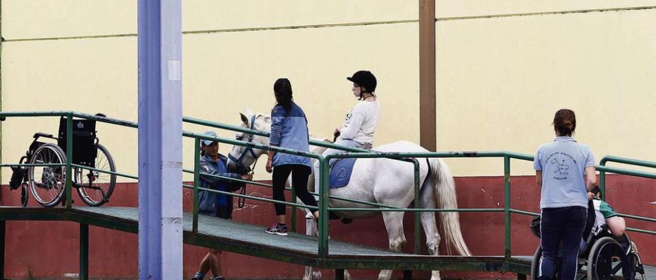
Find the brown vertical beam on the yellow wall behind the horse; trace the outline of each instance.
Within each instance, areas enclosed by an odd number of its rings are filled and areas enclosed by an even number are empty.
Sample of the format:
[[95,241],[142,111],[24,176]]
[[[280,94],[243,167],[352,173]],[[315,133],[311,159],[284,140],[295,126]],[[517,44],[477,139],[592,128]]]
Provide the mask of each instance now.
[[436,140],[435,0],[419,0],[419,141],[435,151]]

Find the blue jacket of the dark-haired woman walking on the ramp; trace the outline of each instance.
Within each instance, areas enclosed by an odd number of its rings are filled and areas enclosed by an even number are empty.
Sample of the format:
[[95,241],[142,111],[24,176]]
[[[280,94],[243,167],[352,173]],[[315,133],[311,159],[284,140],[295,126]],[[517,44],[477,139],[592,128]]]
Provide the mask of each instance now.
[[[289,112],[280,104],[277,104],[271,110],[269,145],[310,152],[309,140],[308,119],[305,117],[303,109],[300,109],[296,103],[291,103],[291,110]],[[273,166],[302,164],[312,167],[310,158],[293,154],[283,154],[282,152],[276,152],[272,164]]]

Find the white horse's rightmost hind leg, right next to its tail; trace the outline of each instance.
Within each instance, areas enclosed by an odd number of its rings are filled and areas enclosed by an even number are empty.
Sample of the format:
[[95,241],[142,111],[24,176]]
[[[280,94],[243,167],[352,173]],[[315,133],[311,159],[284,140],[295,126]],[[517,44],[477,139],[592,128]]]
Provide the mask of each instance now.
[[[430,183],[430,182],[429,182]],[[419,197],[419,207],[422,209],[435,208],[435,188],[429,187],[422,188]],[[421,225],[426,233],[426,247],[428,247],[428,254],[438,256],[438,249],[440,248],[440,232],[435,222],[435,212],[422,212]],[[431,273],[431,280],[440,280],[440,271],[433,270]]]

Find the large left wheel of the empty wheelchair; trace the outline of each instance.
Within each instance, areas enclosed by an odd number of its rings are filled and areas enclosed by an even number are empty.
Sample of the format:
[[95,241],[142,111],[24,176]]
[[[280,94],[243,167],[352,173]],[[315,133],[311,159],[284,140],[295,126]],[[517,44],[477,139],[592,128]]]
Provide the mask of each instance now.
[[[66,155],[57,145],[45,143],[34,151],[30,164],[66,164]],[[45,207],[53,207],[66,189],[66,166],[30,166],[28,182],[34,199]]]

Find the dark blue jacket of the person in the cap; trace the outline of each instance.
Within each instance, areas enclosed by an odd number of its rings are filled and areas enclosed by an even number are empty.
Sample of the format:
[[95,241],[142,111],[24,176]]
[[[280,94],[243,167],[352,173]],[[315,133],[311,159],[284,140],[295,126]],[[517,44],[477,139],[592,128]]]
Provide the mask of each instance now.
[[[218,161],[215,162],[210,156],[203,156],[199,162],[201,177],[199,180],[199,186],[201,188],[211,188],[213,190],[222,190],[224,192],[231,191],[231,184],[235,184],[224,179],[211,177],[208,175],[203,175],[202,173],[209,173],[212,175],[230,177],[234,179],[241,179],[241,175],[237,173],[228,172],[227,168],[228,158],[226,156],[219,154]],[[238,183],[237,183],[238,184]],[[201,190],[198,192],[199,196],[199,205],[198,209],[201,212],[210,212],[215,213],[216,207],[218,205],[232,205],[232,196],[226,196],[225,194],[216,194],[214,192],[208,192],[206,190]]]

